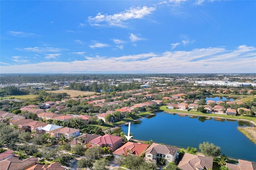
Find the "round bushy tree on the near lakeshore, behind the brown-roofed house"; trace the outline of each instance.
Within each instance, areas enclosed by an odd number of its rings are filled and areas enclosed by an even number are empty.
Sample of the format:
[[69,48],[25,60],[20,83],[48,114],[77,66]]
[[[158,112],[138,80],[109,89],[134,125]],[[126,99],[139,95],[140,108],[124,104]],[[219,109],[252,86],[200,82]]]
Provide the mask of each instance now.
[[203,142],[199,144],[199,149],[206,156],[217,157],[221,154],[221,150],[219,146],[215,146],[213,143]]

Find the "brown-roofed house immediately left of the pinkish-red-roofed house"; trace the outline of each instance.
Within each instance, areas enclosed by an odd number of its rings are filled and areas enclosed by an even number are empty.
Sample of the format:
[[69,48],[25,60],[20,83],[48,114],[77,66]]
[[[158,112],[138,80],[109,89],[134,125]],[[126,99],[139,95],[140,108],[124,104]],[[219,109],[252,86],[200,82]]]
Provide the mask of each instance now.
[[71,147],[75,146],[76,144],[82,144],[84,148],[88,148],[91,146],[90,141],[98,138],[99,136],[100,135],[98,134],[82,134],[81,136],[74,138],[69,143]]

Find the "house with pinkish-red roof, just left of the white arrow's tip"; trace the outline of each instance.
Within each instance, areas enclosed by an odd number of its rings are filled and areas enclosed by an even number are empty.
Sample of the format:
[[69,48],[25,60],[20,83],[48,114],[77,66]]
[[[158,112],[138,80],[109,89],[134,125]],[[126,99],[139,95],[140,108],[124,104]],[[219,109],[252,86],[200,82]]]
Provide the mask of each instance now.
[[122,145],[122,140],[123,138],[120,136],[105,134],[104,136],[99,136],[98,138],[91,140],[90,143],[91,146],[109,146],[110,151],[114,152],[117,148],[119,148]]

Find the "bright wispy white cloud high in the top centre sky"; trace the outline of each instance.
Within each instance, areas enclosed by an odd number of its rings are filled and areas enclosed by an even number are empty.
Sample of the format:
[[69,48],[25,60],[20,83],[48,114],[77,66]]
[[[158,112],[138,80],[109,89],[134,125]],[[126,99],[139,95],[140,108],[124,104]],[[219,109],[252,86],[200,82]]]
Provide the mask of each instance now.
[[108,15],[98,13],[95,17],[88,17],[88,22],[92,26],[124,26],[124,21],[131,19],[142,19],[145,16],[152,13],[152,11],[156,10],[154,7],[143,6],[142,8],[139,6],[137,8],[130,8],[125,10],[124,12],[120,12],[118,14]]

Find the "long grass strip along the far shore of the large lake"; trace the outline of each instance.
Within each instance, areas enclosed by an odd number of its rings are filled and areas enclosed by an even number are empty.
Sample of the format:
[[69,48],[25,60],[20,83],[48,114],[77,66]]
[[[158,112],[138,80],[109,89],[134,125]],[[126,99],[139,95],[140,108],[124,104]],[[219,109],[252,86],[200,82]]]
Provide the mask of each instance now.
[[231,116],[231,115],[220,115],[220,114],[212,114],[212,113],[201,113],[198,111],[180,111],[180,110],[175,110],[175,109],[167,109],[166,106],[161,106],[160,109],[162,111],[169,111],[173,113],[185,113],[185,114],[193,114],[193,115],[202,115],[206,117],[223,117],[223,118],[229,118],[229,119],[245,119],[248,121],[253,121],[256,123],[256,116],[247,116],[247,115],[242,115],[242,116]]

